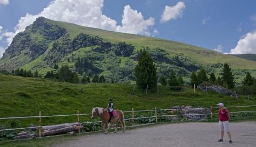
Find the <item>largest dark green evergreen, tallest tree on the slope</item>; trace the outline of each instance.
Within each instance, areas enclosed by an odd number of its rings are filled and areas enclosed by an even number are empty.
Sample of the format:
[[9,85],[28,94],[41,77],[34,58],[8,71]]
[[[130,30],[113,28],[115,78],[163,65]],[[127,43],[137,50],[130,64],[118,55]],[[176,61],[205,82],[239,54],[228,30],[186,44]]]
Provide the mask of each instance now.
[[141,52],[138,64],[135,67],[135,77],[140,88],[146,88],[148,85],[152,89],[157,85],[156,67],[145,49]]

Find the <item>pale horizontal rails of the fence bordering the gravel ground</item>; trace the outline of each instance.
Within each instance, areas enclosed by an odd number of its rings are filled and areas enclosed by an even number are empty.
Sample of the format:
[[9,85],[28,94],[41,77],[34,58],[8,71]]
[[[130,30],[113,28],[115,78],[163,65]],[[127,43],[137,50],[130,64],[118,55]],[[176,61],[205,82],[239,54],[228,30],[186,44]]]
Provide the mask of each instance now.
[[[256,112],[256,110],[250,110],[250,111],[240,111],[241,107],[256,107],[256,106],[231,106],[226,108],[239,108],[239,111],[230,112],[230,114],[236,114],[236,113],[253,113]],[[187,116],[187,115],[218,115],[218,113],[207,113],[207,114],[186,114],[187,110],[195,110],[195,109],[216,109],[218,107],[209,107],[209,108],[179,108],[179,109],[155,109],[155,110],[136,110],[136,111],[123,111],[123,113],[139,113],[139,112],[154,112],[154,116],[148,116],[148,117],[133,117],[133,118],[125,118],[124,120],[141,120],[145,118],[155,118],[157,122],[157,118],[159,117],[168,117],[168,116]],[[185,110],[185,114],[176,114],[176,115],[156,115],[156,111],[172,111],[172,110]],[[64,116],[77,116],[78,114],[68,114],[68,115],[45,115],[45,116],[24,116],[24,117],[2,117],[0,120],[11,120],[11,119],[23,119],[23,118],[42,118],[42,117],[64,117]],[[80,116],[86,116],[86,115],[92,115],[92,114],[79,114]],[[133,114],[134,115],[134,114]],[[91,123],[100,123],[101,121],[94,121],[94,122],[81,122],[81,123],[74,123],[74,124],[91,124]],[[147,124],[155,124],[155,123],[147,123]],[[137,127],[140,125],[145,124],[139,124],[139,125],[132,125],[128,127]],[[49,125],[40,126],[40,127],[26,127],[26,128],[12,128],[12,129],[2,129],[0,131],[10,131],[10,130],[23,130],[23,129],[32,129],[32,128],[43,128],[48,127]]]

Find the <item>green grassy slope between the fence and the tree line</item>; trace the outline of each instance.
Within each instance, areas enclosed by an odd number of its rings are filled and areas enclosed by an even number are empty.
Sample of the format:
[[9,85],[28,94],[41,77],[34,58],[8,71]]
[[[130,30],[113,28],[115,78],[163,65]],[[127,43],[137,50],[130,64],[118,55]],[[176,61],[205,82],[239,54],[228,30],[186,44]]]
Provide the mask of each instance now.
[[[41,78],[22,78],[19,76],[0,74],[0,117],[38,116],[90,113],[93,107],[106,107],[108,97],[114,99],[115,109],[135,110],[169,108],[170,106],[188,105],[193,107],[215,106],[224,102],[226,106],[255,105],[256,97],[251,96],[247,101],[246,96],[234,99],[230,96],[215,93],[206,93],[185,87],[182,92],[170,93],[168,87],[160,86],[160,94],[136,88],[134,85],[121,84],[94,84],[75,85],[72,83],[60,83]],[[43,118],[43,125],[75,122],[74,117]],[[91,121],[89,117],[83,117],[82,121]],[[28,127],[30,123],[37,124],[36,118],[15,120],[18,127]],[[1,124],[6,121],[0,121]]]

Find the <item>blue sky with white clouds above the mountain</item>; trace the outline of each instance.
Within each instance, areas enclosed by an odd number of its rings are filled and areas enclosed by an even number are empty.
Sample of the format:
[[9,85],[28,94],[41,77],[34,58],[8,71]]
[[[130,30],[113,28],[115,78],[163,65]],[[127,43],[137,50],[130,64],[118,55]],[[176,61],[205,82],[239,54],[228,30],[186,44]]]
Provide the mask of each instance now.
[[0,58],[40,16],[221,53],[256,53],[255,8],[254,0],[0,0]]

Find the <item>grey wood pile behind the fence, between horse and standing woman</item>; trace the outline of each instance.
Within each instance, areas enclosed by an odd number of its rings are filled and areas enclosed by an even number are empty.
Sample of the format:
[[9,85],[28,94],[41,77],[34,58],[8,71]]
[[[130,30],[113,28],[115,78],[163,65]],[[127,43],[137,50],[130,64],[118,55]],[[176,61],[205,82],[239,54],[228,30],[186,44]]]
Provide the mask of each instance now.
[[191,106],[187,106],[187,107],[185,107],[185,106],[174,106],[174,107],[172,107],[172,109],[174,109],[174,111],[179,111],[180,114],[186,115],[187,119],[189,121],[207,120],[208,114],[211,113],[211,110],[202,109],[203,107],[198,107],[198,108],[193,108],[193,109],[189,109],[189,108],[192,108],[192,107]]

